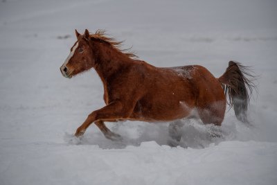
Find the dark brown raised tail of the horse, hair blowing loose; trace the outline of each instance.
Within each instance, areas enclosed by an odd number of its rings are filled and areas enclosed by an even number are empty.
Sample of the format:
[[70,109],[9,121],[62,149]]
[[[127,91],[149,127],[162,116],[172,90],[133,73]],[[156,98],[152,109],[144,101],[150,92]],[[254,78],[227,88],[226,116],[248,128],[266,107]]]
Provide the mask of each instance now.
[[229,62],[225,73],[218,78],[224,88],[227,103],[235,110],[238,120],[244,123],[249,123],[247,109],[253,89],[256,89],[254,78],[249,67],[233,61]]

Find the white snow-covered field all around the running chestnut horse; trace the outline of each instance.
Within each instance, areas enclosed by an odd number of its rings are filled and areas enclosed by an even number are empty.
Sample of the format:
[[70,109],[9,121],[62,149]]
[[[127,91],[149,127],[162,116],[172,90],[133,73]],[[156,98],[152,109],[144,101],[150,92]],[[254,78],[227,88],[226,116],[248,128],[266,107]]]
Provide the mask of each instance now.
[[[276,12],[274,0],[1,1],[0,184],[276,184]],[[229,60],[252,66],[252,125],[231,109],[222,138],[190,121],[177,148],[168,123],[109,123],[122,142],[94,125],[75,139],[104,105],[95,71],[60,73],[75,28],[105,28],[159,67],[202,64],[220,76]]]

